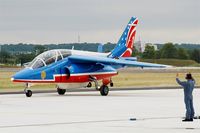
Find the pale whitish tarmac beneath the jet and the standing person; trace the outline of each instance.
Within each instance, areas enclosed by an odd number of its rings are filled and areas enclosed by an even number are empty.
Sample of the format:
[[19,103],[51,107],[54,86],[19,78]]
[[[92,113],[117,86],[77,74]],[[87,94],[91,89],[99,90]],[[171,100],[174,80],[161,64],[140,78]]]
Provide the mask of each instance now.
[[[200,89],[194,106],[200,114]],[[180,89],[0,95],[1,133],[199,133],[200,119],[184,123],[184,114]]]

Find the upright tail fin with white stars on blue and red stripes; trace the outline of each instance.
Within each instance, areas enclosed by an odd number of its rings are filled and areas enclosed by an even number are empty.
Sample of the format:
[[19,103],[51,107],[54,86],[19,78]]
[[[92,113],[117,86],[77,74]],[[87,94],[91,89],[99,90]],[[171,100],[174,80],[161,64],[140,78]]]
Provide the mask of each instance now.
[[118,58],[118,57],[130,57],[132,55],[137,24],[138,24],[138,18],[131,17],[117,45],[108,55],[108,57]]

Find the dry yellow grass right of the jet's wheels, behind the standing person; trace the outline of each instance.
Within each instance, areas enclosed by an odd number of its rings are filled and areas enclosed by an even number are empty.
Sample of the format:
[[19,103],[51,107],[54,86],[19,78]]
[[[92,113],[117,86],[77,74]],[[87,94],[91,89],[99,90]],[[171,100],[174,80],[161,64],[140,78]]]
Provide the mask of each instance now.
[[[184,80],[185,73],[180,73],[180,79]],[[120,73],[113,78],[113,82],[117,87],[136,86],[136,87],[148,87],[148,86],[178,86],[175,81],[176,73],[171,72],[146,72],[146,73]],[[193,73],[194,78],[197,81],[197,85],[200,85],[199,73]]]

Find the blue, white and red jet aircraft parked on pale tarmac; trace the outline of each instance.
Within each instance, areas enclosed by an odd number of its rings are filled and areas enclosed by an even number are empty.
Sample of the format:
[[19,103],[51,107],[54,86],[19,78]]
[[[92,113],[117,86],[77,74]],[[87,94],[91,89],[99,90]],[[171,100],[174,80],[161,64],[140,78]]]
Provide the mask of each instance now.
[[[109,53],[55,49],[46,51],[33,59],[26,68],[17,72],[11,80],[26,84],[25,94],[32,96],[29,83],[55,83],[59,95],[66,89],[91,87],[107,96],[113,86],[111,77],[118,74],[118,69],[133,67],[167,67],[167,65],[139,62],[131,57],[136,35],[138,18],[131,17],[115,48]],[[98,80],[102,81],[99,87]]]

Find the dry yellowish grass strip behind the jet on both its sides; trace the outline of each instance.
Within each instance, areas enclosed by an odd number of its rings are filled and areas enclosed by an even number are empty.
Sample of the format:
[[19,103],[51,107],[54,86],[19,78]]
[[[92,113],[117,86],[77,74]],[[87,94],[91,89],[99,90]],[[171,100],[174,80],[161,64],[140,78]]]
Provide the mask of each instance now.
[[[23,90],[23,83],[13,83],[10,78],[15,72],[0,71],[0,91]],[[200,72],[193,70],[196,85],[200,85]],[[147,86],[178,86],[175,81],[176,72],[134,72],[122,71],[112,78],[115,87],[147,87]],[[180,72],[184,79],[185,72]],[[34,84],[31,89],[55,89],[55,84]]]

